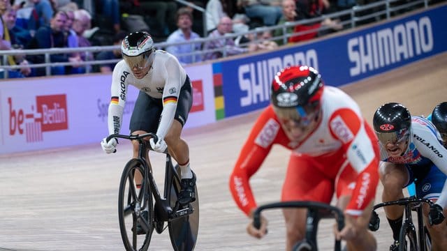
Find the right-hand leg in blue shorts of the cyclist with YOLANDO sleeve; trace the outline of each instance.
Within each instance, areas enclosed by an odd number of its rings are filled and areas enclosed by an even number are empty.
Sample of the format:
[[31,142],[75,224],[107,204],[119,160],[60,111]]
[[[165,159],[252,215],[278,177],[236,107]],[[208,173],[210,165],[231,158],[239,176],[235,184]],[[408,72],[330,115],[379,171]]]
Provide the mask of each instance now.
[[[435,165],[432,165],[428,174],[416,182],[416,195],[420,198],[437,201],[441,195],[442,189],[444,188],[446,178],[446,174],[441,172],[441,170],[439,170]],[[447,246],[446,220],[439,225],[430,226],[430,224],[427,224],[427,215],[429,211],[430,207],[427,204],[424,204],[424,222],[430,233],[430,237],[432,238],[432,250],[445,250],[445,247]],[[447,215],[447,208],[444,208],[444,215]]]

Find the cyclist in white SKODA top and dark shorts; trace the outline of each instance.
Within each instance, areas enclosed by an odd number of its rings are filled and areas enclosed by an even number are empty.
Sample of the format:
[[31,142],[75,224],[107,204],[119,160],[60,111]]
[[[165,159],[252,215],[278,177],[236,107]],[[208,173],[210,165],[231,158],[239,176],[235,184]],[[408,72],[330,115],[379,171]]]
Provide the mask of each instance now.
[[[154,151],[170,155],[181,169],[182,190],[179,201],[187,204],[195,199],[196,175],[189,167],[189,146],[181,139],[182,128],[192,106],[191,82],[179,61],[168,52],[154,50],[149,34],[135,32],[124,38],[123,60],[113,70],[111,101],[108,109],[109,135],[119,133],[129,84],[140,89],[131,116],[132,135],[156,132],[158,141],[149,139]],[[117,139],[101,146],[105,153],[115,152]],[[138,142],[133,142],[133,158],[138,157]],[[148,157],[148,156],[147,156]],[[148,160],[148,158],[147,158]],[[142,177],[135,174],[135,183]]]

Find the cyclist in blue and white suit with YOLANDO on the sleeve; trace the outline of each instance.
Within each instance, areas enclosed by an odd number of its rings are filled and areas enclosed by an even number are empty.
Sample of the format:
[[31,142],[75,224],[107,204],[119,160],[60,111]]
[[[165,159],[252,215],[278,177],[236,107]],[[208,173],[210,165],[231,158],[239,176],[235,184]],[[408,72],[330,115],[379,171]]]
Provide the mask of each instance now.
[[[443,250],[447,246],[447,210],[443,212],[447,208],[447,149],[437,128],[423,116],[411,116],[398,103],[379,107],[373,125],[381,147],[382,201],[402,199],[402,188],[414,182],[418,197],[436,201],[431,208],[423,208],[424,220],[432,250]],[[387,206],[384,210],[395,240],[390,250],[397,250],[403,208]]]

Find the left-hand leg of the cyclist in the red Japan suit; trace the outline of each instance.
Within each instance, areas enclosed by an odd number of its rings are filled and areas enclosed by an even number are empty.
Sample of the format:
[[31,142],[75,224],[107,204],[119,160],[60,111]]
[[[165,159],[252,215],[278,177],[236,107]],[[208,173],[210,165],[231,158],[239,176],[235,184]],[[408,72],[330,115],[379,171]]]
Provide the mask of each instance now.
[[[291,155],[282,188],[282,201],[309,200],[330,203],[333,183],[316,167],[314,158]],[[306,209],[285,208],[286,250],[305,238]]]

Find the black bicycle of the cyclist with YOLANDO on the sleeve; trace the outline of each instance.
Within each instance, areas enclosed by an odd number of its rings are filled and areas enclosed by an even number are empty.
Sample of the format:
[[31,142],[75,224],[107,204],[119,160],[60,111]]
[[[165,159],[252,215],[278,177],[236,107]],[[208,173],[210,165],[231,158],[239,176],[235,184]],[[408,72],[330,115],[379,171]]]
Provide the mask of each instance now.
[[[405,197],[397,201],[386,201],[374,205],[371,220],[369,221],[369,230],[377,231],[380,225],[377,208],[383,206],[404,206],[404,220],[399,234],[399,251],[430,251],[432,249],[430,234],[423,222],[423,204],[433,205],[430,199],[421,199],[416,196]],[[418,228],[413,223],[412,212],[416,212]]]

